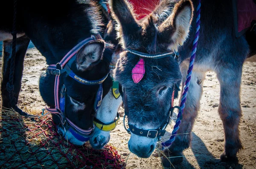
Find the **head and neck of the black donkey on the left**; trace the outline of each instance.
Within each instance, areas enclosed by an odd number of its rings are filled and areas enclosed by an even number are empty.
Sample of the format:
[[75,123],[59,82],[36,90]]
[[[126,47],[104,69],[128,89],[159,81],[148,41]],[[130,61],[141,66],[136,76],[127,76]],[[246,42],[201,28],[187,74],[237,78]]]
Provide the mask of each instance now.
[[[34,2],[30,2],[34,3]],[[28,15],[24,18],[31,18],[24,23],[26,25],[35,25],[36,28],[26,26],[25,32],[32,39],[32,42],[39,51],[46,57],[47,64],[57,64],[61,59],[77,44],[91,35],[99,36],[103,27],[102,18],[99,15],[98,7],[92,1],[71,0],[63,3],[57,8],[57,4],[43,3],[39,11],[24,7]],[[27,4],[29,6],[29,4]],[[56,8],[54,8],[54,6]],[[47,8],[49,11],[44,12]],[[50,9],[49,9],[50,8]],[[35,15],[30,14],[33,13]],[[42,26],[43,25],[43,26]],[[93,127],[93,118],[95,115],[94,105],[96,94],[100,85],[82,84],[82,79],[87,81],[99,81],[106,77],[102,83],[103,97],[110,90],[112,79],[108,75],[111,62],[111,49],[106,48],[105,41],[98,38],[81,46],[75,56],[66,64],[69,69],[76,74],[74,79],[67,72],[59,76],[58,98],[61,97],[61,88],[65,90],[64,120],[60,115],[53,115],[53,120],[58,125],[58,130],[69,142],[82,145],[84,139],[79,139],[76,130],[70,132],[70,124],[75,124],[82,130],[90,130]],[[57,67],[61,70],[60,67]],[[80,82],[78,82],[80,81]],[[44,73],[40,79],[40,92],[44,101],[50,108],[55,108],[55,76]],[[60,101],[61,102],[61,101]],[[69,121],[66,121],[69,119]],[[66,121],[66,122],[65,122]],[[74,133],[75,132],[75,133]],[[80,137],[81,138],[81,137]]]

